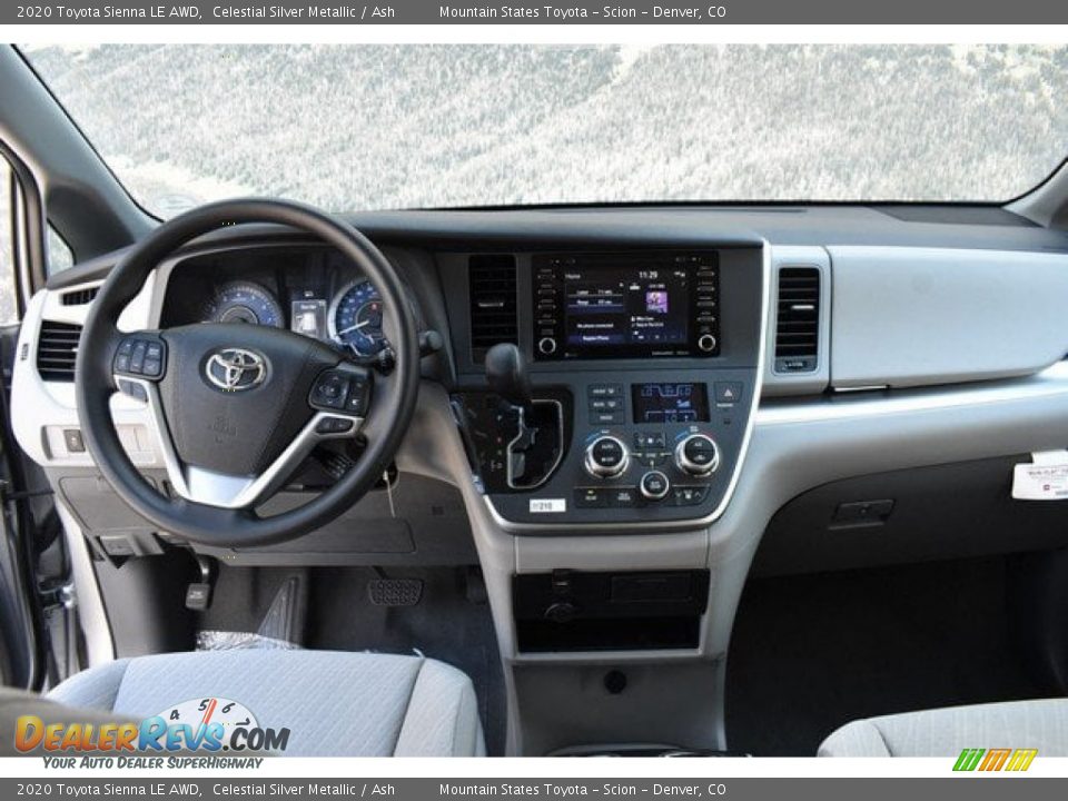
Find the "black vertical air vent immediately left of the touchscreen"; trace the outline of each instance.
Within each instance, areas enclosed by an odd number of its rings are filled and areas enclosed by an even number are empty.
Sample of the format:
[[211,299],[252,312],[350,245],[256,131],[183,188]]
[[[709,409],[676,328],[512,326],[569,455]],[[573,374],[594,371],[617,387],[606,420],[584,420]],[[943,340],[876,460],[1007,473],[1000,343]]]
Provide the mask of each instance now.
[[467,280],[471,355],[478,362],[498,343],[518,344],[515,257],[472,256]]

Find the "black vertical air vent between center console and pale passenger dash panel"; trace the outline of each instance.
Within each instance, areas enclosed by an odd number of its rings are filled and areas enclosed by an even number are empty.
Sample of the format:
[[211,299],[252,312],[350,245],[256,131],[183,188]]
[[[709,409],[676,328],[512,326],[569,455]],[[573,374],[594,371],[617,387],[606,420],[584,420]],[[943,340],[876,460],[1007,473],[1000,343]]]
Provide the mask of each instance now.
[[820,346],[820,270],[779,270],[775,373],[812,373]]

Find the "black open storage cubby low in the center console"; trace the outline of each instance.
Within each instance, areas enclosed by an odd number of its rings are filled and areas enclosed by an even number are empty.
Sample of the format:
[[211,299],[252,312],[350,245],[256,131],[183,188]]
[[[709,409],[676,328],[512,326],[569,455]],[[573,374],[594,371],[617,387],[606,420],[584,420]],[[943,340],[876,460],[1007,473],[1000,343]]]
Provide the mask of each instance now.
[[513,577],[521,652],[695,649],[709,601],[709,571]]

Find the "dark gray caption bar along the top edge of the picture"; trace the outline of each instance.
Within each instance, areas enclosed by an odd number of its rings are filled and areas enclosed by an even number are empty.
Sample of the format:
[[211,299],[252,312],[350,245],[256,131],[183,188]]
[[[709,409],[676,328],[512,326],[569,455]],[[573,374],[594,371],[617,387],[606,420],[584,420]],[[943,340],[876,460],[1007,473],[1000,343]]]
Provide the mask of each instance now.
[[1050,0],[140,0],[4,2],[2,24],[1065,24]]

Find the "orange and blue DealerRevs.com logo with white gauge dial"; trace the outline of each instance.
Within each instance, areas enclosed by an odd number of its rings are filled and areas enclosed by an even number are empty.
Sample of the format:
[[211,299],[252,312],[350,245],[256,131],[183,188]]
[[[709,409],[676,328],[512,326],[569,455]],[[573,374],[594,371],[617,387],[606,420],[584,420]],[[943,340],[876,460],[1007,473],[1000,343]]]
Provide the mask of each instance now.
[[14,746],[26,754],[277,753],[288,744],[288,729],[263,728],[248,708],[224,698],[185,701],[139,723],[44,723],[22,715],[14,730]]

